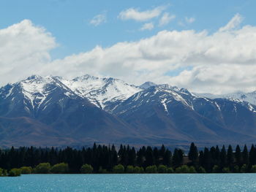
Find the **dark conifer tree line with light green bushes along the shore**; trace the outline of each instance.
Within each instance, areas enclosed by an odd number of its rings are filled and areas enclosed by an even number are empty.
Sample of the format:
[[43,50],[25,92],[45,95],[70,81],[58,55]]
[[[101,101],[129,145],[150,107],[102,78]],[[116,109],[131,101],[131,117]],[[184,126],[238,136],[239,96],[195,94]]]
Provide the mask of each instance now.
[[[205,147],[197,150],[194,143],[189,153],[162,147],[135,147],[96,145],[78,150],[12,147],[0,150],[0,175],[28,173],[222,173],[256,172],[256,147],[250,150],[239,145],[221,148]],[[18,169],[21,168],[21,169]]]

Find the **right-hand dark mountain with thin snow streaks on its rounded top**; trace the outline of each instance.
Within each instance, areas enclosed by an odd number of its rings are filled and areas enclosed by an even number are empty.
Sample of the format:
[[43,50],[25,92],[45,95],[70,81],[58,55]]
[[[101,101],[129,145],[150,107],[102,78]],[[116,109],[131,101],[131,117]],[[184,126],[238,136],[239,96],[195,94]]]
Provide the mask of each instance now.
[[113,113],[162,140],[231,143],[256,138],[251,134],[256,135],[254,110],[246,102],[206,99],[186,89],[156,85],[135,93]]

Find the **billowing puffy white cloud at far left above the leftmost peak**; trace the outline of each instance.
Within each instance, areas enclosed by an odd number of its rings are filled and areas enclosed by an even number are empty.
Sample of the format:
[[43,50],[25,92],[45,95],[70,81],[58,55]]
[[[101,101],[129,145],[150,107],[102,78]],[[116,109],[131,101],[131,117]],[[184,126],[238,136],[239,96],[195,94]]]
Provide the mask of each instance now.
[[1,85],[39,72],[51,60],[49,51],[57,46],[45,28],[30,20],[0,29],[0,45]]

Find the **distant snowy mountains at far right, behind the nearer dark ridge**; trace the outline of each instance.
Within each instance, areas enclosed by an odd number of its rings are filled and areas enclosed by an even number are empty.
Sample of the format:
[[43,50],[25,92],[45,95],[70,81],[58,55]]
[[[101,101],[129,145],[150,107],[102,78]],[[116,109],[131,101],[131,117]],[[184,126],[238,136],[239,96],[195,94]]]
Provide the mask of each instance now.
[[256,105],[256,91],[250,92],[250,93],[244,93],[242,91],[238,91],[235,93],[227,93],[222,95],[214,95],[211,93],[195,93],[198,96],[205,96],[211,99],[216,98],[227,98],[227,99],[238,99],[241,101],[247,101],[251,104]]

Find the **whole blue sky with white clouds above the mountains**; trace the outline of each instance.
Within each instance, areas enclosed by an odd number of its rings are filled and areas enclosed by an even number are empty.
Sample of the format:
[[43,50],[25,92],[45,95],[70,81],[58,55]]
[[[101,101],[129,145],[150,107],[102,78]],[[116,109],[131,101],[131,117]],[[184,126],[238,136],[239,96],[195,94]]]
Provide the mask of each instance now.
[[256,91],[254,0],[0,0],[0,85],[91,74]]

